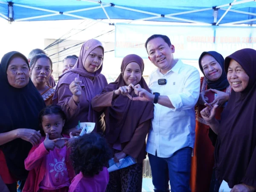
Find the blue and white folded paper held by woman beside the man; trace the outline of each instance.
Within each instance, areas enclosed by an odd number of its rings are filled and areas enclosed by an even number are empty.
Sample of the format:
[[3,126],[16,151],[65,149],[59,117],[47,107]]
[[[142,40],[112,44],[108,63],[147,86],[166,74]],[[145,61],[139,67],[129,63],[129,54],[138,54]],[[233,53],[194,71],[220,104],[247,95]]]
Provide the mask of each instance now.
[[120,159],[119,163],[116,163],[114,161],[114,158],[109,160],[108,163],[109,163],[108,172],[113,172],[118,169],[122,169],[122,168],[125,168],[128,166],[134,165],[136,163],[136,160],[133,157],[131,157],[130,155],[128,155],[127,157]]

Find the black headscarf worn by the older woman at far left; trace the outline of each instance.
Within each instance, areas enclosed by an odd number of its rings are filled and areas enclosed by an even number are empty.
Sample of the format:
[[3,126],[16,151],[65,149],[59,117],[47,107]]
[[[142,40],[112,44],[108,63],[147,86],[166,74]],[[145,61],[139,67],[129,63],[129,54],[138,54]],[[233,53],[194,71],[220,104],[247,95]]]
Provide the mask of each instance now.
[[[9,132],[18,128],[39,130],[38,114],[44,107],[44,100],[35,88],[31,79],[23,88],[12,87],[7,79],[7,68],[12,58],[21,57],[28,60],[20,52],[6,53],[0,63],[0,133]],[[24,160],[32,148],[31,143],[15,139],[4,145],[0,145],[3,151],[9,171],[17,179],[26,179],[28,172],[25,170]]]

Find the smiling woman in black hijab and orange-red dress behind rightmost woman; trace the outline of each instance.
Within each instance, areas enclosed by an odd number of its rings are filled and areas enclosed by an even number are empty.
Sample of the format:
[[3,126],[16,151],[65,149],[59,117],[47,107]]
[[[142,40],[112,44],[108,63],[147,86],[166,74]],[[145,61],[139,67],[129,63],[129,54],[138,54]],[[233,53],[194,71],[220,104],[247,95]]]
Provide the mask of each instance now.
[[[190,182],[193,192],[207,192],[215,187],[215,175],[212,175],[214,147],[208,137],[212,130],[202,118],[200,111],[205,108],[205,103],[218,104],[220,107],[215,117],[220,119],[223,104],[229,99],[231,88],[224,71],[224,58],[218,52],[203,52],[199,58],[199,67],[204,77],[201,77],[200,97],[196,106],[195,147]],[[212,135],[216,141],[216,135],[214,133]]]

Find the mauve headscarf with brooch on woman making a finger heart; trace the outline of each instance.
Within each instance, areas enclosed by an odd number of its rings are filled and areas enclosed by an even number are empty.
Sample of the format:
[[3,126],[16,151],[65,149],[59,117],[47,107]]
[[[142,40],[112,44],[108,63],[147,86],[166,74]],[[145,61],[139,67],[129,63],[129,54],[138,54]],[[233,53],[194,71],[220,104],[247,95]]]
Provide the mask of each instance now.
[[[76,61],[75,66],[71,70],[68,70],[65,73],[63,73],[61,76],[59,76],[58,86],[53,96],[54,104],[57,104],[58,102],[58,88],[61,86],[61,84],[70,84],[72,81],[75,80],[75,78],[79,79],[84,84],[86,99],[89,103],[91,102],[91,99],[94,96],[96,96],[92,79],[98,77],[101,74],[103,63],[95,73],[89,73],[84,68],[84,62],[86,58],[88,57],[90,52],[96,47],[101,47],[103,49],[103,54],[104,54],[104,47],[100,41],[96,39],[90,39],[84,42],[84,44],[81,47],[80,55],[78,60]],[[88,121],[89,122],[97,121],[97,113],[92,109],[91,105],[89,105]]]

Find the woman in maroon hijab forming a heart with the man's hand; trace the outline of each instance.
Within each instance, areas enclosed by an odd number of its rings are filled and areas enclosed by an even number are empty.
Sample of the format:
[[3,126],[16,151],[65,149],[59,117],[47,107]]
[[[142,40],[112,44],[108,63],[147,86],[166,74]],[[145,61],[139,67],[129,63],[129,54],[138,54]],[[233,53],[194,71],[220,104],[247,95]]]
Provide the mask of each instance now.
[[134,85],[149,91],[143,79],[144,62],[138,55],[122,60],[121,74],[92,99],[95,111],[105,113],[105,137],[113,147],[114,160],[130,155],[137,163],[110,173],[107,192],[138,192],[142,190],[143,160],[146,157],[145,138],[151,126],[152,102],[132,101]]

